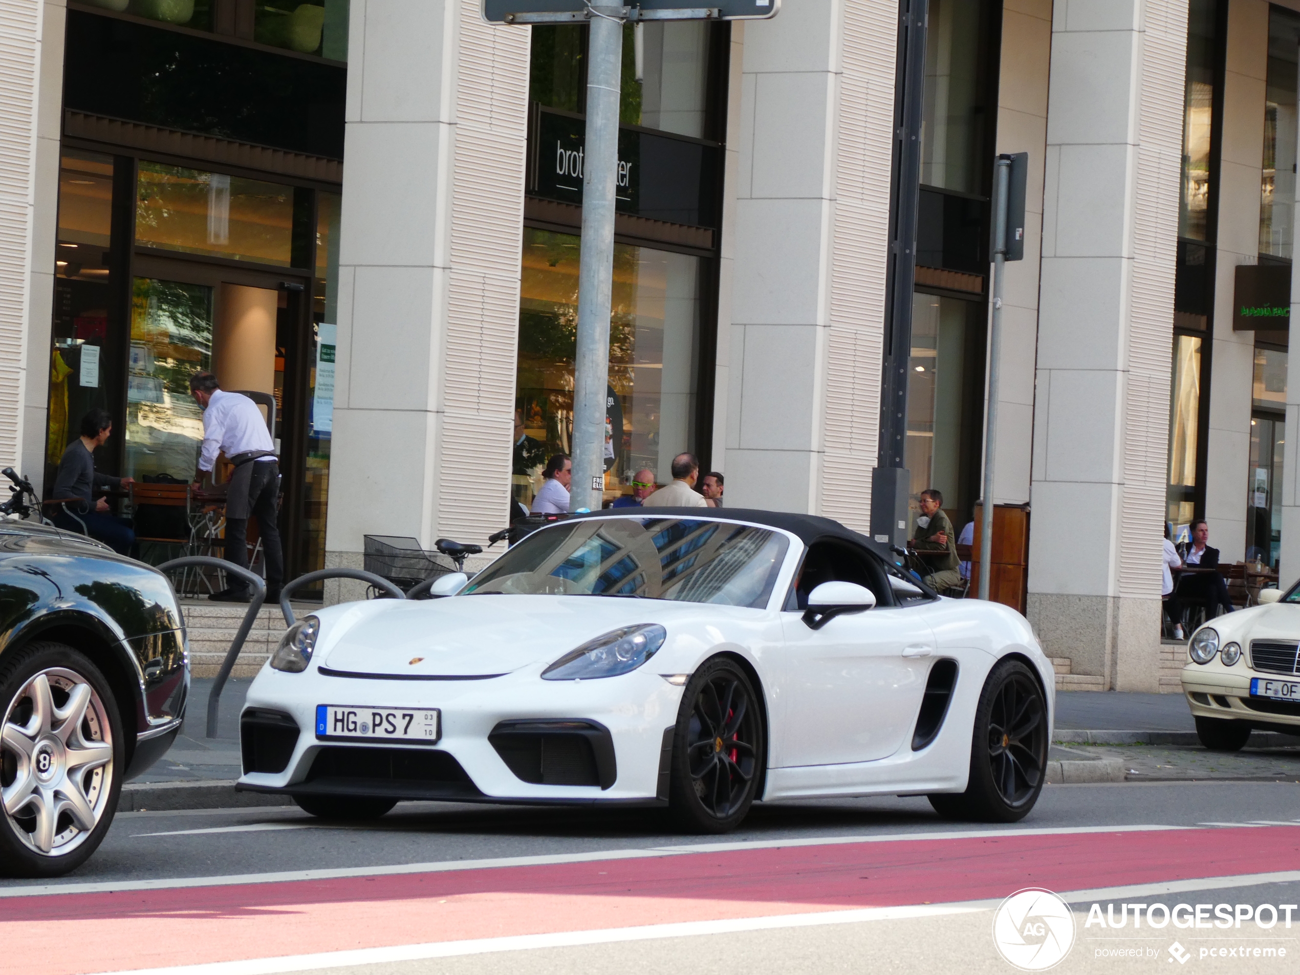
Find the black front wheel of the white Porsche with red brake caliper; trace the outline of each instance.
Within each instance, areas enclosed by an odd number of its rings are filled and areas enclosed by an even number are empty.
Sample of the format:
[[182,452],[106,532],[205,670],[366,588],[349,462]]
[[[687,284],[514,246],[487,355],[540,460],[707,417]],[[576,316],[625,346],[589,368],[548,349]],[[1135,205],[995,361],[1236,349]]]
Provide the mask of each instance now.
[[767,762],[767,729],[744,668],[715,658],[681,697],[672,740],[668,810],[692,833],[725,833],[749,814]]

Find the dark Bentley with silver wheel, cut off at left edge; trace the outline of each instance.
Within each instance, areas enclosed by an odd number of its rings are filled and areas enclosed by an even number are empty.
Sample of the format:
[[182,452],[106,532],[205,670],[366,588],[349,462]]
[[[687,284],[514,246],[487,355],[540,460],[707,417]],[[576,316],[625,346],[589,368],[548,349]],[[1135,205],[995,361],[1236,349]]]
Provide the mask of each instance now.
[[82,536],[0,519],[0,872],[83,863],[122,781],[181,731],[188,686],[165,576]]

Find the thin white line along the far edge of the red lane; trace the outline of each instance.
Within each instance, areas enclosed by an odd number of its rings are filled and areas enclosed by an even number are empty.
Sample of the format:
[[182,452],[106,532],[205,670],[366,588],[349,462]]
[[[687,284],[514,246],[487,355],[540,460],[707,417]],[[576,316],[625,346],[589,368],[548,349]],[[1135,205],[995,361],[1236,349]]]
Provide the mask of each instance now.
[[838,846],[855,842],[907,842],[910,840],[968,840],[1006,836],[1080,836],[1086,833],[1141,833],[1191,829],[1186,826],[1089,826],[1050,829],[950,829],[926,833],[889,833],[887,836],[828,836],[812,838],[753,840],[710,842],[682,846],[650,846],[630,850],[592,850],[589,853],[556,853],[533,857],[494,857],[490,859],[452,859],[433,863],[396,863],[374,867],[332,867],[325,870],[286,870],[270,874],[231,874],[203,878],[157,878],[153,880],[107,880],[83,884],[32,884],[0,888],[5,897],[48,897],[51,894],[113,893],[125,890],[174,890],[191,887],[234,887],[238,884],[281,884],[294,880],[335,880],[354,876],[395,876],[402,874],[442,874],[452,870],[491,870],[495,867],[538,867],[559,863],[593,863],[599,861],[680,857],[688,853],[725,853],[729,850],[783,849],[788,846]]

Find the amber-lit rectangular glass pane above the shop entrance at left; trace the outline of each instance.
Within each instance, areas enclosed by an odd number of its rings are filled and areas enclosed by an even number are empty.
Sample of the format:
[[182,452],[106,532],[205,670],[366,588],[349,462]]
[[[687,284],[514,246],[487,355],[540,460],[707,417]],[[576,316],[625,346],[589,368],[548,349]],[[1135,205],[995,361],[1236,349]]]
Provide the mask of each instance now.
[[294,195],[291,186],[142,161],[135,240],[169,251],[294,266]]

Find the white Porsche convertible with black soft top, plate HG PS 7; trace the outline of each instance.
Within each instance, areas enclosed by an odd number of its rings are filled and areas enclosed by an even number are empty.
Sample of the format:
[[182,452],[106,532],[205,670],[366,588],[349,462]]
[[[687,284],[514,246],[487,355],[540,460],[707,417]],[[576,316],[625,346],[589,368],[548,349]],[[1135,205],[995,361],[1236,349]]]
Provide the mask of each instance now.
[[1043,788],[1054,679],[1024,618],[828,519],[578,515],[439,590],[292,625],[248,690],[239,788],[339,819],[666,803],[701,832],[875,794],[1014,822]]

